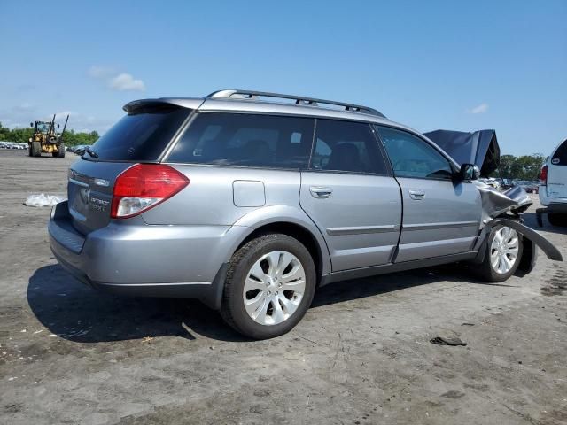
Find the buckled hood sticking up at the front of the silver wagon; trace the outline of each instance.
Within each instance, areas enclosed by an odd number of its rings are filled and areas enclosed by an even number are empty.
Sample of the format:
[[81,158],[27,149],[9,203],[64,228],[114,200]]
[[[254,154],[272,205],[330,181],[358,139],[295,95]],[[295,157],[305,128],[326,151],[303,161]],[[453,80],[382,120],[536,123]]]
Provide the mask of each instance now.
[[481,177],[487,177],[500,165],[500,146],[494,130],[472,133],[435,130],[423,135],[446,151],[459,165],[478,166]]

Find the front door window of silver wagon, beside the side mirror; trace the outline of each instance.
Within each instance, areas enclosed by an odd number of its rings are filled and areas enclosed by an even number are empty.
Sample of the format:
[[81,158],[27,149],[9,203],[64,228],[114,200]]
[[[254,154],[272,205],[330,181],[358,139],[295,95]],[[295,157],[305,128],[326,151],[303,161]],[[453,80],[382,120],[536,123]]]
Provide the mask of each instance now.
[[384,148],[392,161],[396,177],[450,179],[449,161],[429,143],[393,128],[377,126]]

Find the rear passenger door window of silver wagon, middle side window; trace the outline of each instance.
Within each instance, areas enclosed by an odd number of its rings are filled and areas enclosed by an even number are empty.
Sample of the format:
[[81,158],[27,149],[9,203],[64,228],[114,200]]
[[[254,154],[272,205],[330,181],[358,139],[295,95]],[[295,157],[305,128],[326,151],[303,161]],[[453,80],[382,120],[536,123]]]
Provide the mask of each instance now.
[[353,173],[388,172],[369,124],[319,119],[310,168]]

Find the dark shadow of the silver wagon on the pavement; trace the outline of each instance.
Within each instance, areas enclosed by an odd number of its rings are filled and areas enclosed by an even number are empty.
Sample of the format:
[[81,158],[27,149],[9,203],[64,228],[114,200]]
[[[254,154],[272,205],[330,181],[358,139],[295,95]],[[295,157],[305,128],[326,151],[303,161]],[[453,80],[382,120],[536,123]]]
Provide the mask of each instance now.
[[[384,274],[330,284],[315,293],[312,307],[367,298],[433,282],[481,283],[449,265]],[[511,286],[501,283],[501,286]],[[77,343],[195,335],[232,342],[249,341],[222,321],[219,313],[187,298],[115,297],[75,281],[58,265],[37,269],[29,279],[27,302],[51,334]]]

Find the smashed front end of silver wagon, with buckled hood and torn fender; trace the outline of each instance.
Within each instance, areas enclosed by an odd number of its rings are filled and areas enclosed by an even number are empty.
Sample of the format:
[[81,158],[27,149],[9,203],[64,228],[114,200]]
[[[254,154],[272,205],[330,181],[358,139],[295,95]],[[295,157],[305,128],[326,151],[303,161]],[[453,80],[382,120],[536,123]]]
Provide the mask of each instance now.
[[[500,147],[494,130],[480,130],[473,133],[436,130],[425,133],[455,161],[462,165],[470,163],[478,166],[481,176],[488,176],[500,165]],[[485,257],[487,240],[496,226],[507,226],[517,231],[523,238],[524,250],[517,268],[517,274],[524,275],[532,271],[540,247],[548,259],[563,261],[561,252],[545,237],[524,225],[521,214],[532,204],[532,199],[519,186],[506,191],[494,189],[483,182],[474,181],[482,199],[482,223],[480,235],[474,248],[478,251],[474,262],[481,263]]]

